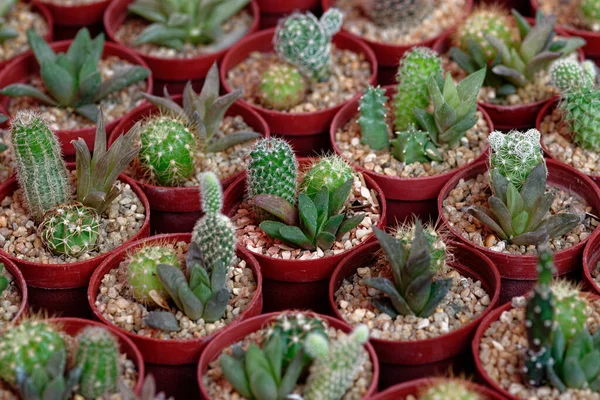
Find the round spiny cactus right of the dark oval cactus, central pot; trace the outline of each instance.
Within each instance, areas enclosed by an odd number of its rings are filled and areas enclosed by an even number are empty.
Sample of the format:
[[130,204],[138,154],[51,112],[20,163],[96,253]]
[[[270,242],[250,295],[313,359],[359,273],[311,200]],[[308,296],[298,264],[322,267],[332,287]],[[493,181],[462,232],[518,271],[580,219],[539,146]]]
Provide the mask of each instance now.
[[321,188],[325,187],[329,192],[333,192],[353,179],[352,167],[342,157],[337,155],[322,157],[306,172],[300,190],[314,199]]

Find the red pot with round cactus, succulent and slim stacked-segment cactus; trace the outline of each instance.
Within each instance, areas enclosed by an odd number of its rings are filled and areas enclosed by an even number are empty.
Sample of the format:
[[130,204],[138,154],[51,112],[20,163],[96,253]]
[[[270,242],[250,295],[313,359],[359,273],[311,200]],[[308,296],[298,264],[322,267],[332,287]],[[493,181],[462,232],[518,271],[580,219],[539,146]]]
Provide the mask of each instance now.
[[[96,318],[102,321],[106,325],[110,325],[117,331],[129,337],[140,349],[144,360],[152,364],[167,364],[167,365],[181,365],[181,364],[192,364],[198,361],[200,353],[204,350],[206,345],[218,334],[215,332],[211,335],[198,338],[198,339],[154,339],[149,337],[143,337],[136,335],[135,333],[128,332],[116,325],[113,325],[108,321],[102,313],[96,307],[96,297],[100,290],[100,284],[104,275],[108,274],[110,270],[118,268],[119,264],[127,257],[127,254],[133,250],[143,246],[153,244],[164,244],[164,243],[177,243],[177,242],[190,242],[192,235],[190,233],[176,233],[169,235],[157,235],[142,240],[138,240],[133,243],[129,243],[127,246],[115,251],[109,258],[96,269],[94,275],[90,280],[90,286],[88,288],[88,303],[92,308],[92,311]],[[252,269],[254,279],[256,280],[256,292],[254,297],[250,300],[250,303],[246,306],[244,311],[232,322],[228,324],[237,325],[244,319],[259,315],[262,310],[262,275],[258,263],[252,257],[252,254],[245,250],[238,248],[236,254],[239,258],[246,261],[248,267]]]

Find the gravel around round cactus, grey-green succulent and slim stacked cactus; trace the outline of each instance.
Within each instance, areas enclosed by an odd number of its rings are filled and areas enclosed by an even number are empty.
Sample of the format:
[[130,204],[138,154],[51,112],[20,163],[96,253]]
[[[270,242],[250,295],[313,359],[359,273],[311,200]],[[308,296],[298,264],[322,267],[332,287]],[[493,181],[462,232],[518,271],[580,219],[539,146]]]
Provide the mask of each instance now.
[[[179,242],[166,246],[175,248],[183,266],[188,244]],[[170,311],[175,315],[182,329],[178,332],[165,332],[149,328],[144,323],[144,318],[152,309],[134,300],[126,283],[126,273],[127,262],[123,261],[119,268],[114,268],[104,275],[96,296],[96,307],[108,321],[128,332],[164,340],[197,339],[224,328],[248,306],[255,295],[257,286],[252,269],[246,265],[246,261],[237,259],[228,273],[227,288],[232,296],[224,317],[211,323],[205,322],[203,319],[193,321],[173,307]]]

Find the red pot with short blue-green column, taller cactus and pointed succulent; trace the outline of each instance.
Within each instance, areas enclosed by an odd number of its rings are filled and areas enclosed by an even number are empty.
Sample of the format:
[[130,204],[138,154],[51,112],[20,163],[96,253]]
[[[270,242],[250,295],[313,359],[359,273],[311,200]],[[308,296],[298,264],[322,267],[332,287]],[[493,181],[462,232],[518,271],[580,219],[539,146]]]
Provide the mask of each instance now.
[[[394,86],[384,87],[386,96],[392,98],[396,94]],[[483,114],[490,132],[494,130],[494,124],[485,110],[478,107],[478,110]],[[342,151],[338,147],[335,135],[352,117],[358,113],[358,100],[353,100],[347,103],[336,115],[329,129],[329,140],[331,146],[338,155],[342,155]],[[484,151],[477,157],[474,162],[483,160],[487,156],[488,150]],[[423,220],[428,220],[434,217],[437,212],[436,199],[442,190],[442,187],[450,178],[461,173],[469,168],[473,163],[463,165],[462,167],[453,169],[452,171],[443,174],[422,177],[422,178],[401,178],[398,176],[387,176],[373,171],[348,160],[352,166],[372,178],[383,190],[385,199],[388,203],[387,220],[389,224],[394,222],[403,222],[412,217],[413,214],[418,215]],[[435,220],[435,218],[431,218]]]

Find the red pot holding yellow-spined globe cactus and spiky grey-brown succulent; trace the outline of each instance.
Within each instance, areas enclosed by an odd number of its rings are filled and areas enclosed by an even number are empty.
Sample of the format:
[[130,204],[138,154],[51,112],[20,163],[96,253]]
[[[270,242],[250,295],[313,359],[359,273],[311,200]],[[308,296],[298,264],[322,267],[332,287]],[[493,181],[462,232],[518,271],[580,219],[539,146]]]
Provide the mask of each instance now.
[[[182,96],[173,97],[177,104],[181,105]],[[158,109],[152,104],[144,104],[134,112],[128,114],[121,120],[113,130],[109,143],[112,144],[121,134],[127,132],[136,122],[143,120],[152,114],[157,114]],[[256,132],[264,137],[269,137],[269,127],[258,113],[241,103],[233,103],[225,115],[240,115],[244,121]],[[221,186],[225,190],[242,173],[237,173],[227,179],[221,180]],[[175,233],[191,232],[198,218],[202,216],[200,205],[200,190],[193,187],[163,187],[154,186],[136,180],[142,188],[148,202],[150,203],[150,223],[153,233]]]

